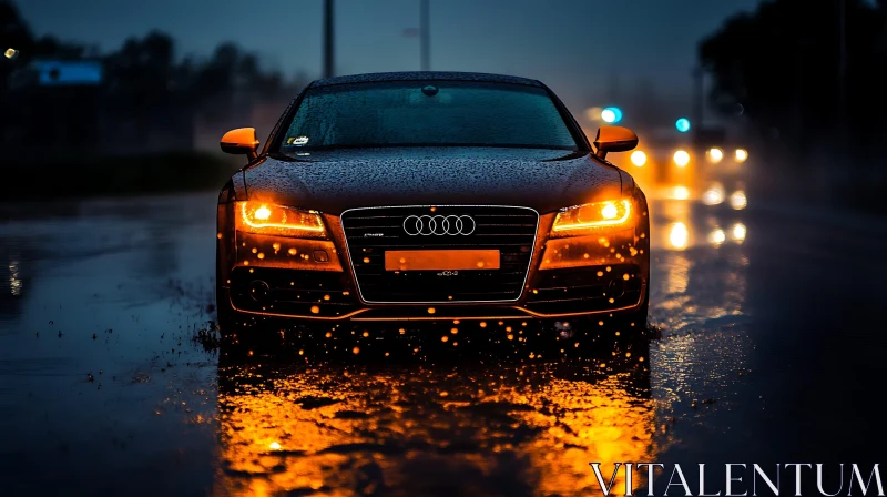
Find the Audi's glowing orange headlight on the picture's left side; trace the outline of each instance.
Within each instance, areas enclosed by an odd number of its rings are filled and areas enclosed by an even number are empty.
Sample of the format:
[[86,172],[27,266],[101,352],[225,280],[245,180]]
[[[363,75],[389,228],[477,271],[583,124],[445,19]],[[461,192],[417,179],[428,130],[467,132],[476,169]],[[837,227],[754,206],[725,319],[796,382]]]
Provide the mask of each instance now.
[[248,233],[325,239],[320,214],[267,202],[237,202],[235,227]]

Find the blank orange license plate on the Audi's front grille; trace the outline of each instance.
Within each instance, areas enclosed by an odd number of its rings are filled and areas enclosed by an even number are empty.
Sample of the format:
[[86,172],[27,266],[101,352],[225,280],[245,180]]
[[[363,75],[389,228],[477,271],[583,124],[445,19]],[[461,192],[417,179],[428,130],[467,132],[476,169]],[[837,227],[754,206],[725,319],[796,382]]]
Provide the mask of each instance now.
[[497,250],[387,251],[386,271],[498,270]]

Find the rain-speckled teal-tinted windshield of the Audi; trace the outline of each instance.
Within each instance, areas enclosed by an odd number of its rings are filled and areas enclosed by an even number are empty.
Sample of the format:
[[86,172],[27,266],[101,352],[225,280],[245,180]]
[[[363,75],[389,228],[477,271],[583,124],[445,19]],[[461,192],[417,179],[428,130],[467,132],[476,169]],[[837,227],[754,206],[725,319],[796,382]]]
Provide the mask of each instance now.
[[578,150],[539,87],[400,81],[308,89],[279,151],[369,146],[511,146]]

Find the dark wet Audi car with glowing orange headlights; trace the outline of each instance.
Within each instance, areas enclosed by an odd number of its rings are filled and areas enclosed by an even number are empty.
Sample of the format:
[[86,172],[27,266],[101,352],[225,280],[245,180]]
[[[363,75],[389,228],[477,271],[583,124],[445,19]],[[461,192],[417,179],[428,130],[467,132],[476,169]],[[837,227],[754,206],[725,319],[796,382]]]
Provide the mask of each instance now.
[[221,140],[248,163],[218,196],[220,328],[613,317],[640,329],[646,197],[606,160],[636,143],[602,126],[592,148],[531,79],[314,81],[261,150],[253,128]]

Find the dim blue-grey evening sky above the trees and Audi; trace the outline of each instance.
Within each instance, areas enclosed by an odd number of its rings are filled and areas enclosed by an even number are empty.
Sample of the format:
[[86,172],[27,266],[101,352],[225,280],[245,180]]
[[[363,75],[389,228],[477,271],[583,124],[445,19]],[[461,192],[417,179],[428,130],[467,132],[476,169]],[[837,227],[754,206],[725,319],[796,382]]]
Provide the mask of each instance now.
[[[431,69],[540,79],[571,108],[641,79],[690,97],[696,42],[757,0],[430,0]],[[160,29],[177,53],[232,40],[286,73],[320,73],[322,0],[19,0],[35,34],[111,51]],[[418,0],[336,0],[339,74],[419,69]]]

